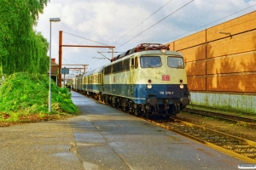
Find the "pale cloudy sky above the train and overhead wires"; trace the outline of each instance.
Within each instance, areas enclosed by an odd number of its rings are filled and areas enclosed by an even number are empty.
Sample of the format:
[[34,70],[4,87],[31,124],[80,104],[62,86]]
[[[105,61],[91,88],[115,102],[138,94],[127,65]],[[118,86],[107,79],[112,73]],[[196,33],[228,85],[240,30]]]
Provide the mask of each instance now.
[[[49,41],[49,18],[61,18],[51,24],[51,58],[59,63],[59,31],[65,45],[115,46],[115,52],[125,52],[144,42],[173,42],[255,10],[256,0],[50,0],[34,30]],[[63,47],[62,67],[88,65],[91,71],[107,65],[110,52]]]

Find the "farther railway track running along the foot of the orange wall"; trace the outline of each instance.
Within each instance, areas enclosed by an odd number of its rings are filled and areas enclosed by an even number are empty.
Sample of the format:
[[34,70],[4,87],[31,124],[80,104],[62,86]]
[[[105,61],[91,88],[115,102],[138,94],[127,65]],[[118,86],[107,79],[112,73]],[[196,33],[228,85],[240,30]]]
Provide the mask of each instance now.
[[201,111],[196,109],[184,108],[183,112],[187,112],[190,114],[201,115],[201,116],[211,116],[220,120],[235,122],[238,125],[256,128],[256,119],[251,119],[247,117],[241,117],[236,115],[227,115],[224,113],[217,113],[212,111]]

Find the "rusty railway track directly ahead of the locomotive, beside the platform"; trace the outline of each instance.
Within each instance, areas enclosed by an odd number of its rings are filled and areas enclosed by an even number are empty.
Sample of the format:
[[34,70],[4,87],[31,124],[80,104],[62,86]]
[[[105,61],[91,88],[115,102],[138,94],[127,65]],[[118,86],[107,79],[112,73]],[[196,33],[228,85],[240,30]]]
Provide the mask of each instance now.
[[229,156],[234,156],[241,161],[256,163],[256,142],[241,139],[227,133],[221,133],[206,127],[201,127],[190,122],[184,122],[177,118],[171,119],[172,122],[170,120],[148,121],[160,127],[180,133],[190,139],[195,139],[214,150],[219,150]]

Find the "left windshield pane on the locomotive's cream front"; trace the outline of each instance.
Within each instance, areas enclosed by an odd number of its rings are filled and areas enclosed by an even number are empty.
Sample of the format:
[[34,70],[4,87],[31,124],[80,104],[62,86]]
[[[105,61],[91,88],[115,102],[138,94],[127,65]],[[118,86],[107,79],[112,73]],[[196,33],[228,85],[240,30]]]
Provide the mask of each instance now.
[[160,67],[161,65],[162,63],[159,56],[142,56],[141,57],[142,68]]

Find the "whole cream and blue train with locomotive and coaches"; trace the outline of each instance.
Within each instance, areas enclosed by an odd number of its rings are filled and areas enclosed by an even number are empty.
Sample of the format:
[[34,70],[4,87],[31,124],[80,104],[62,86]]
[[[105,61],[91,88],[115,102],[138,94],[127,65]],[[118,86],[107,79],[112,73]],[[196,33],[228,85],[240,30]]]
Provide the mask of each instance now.
[[73,77],[72,89],[136,116],[176,116],[190,103],[183,54],[160,43],[139,44]]

